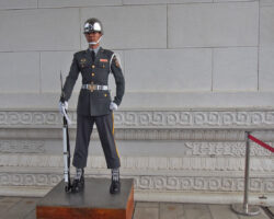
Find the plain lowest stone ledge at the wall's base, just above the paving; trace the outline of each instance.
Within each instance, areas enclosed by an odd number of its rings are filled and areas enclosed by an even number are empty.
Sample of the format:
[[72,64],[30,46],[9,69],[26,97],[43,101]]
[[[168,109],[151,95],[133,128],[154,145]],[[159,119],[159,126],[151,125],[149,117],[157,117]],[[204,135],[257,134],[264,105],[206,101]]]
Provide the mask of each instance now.
[[[1,196],[25,196],[43,197],[52,187],[31,186],[0,186]],[[266,197],[262,199],[260,197]],[[137,201],[171,201],[171,203],[204,203],[204,204],[233,204],[242,203],[242,192],[161,192],[161,191],[139,191],[135,189]],[[252,205],[274,205],[273,193],[250,193],[250,204]]]

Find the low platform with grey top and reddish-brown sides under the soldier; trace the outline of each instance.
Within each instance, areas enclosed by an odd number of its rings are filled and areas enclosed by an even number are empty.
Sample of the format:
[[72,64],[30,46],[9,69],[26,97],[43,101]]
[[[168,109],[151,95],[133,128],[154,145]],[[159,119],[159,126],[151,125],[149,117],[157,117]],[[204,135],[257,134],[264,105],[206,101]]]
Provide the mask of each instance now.
[[36,206],[37,219],[132,219],[134,182],[121,181],[121,193],[110,194],[110,178],[85,178],[84,191],[65,193],[64,181],[56,185]]

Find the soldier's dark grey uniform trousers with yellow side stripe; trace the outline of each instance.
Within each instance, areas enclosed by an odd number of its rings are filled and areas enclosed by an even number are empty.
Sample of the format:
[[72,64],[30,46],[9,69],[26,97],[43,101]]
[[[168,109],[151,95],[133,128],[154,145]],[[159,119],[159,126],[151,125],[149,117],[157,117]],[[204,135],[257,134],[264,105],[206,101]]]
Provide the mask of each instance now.
[[102,116],[77,115],[76,149],[72,164],[79,169],[87,166],[90,136],[92,134],[94,123],[96,124],[107,169],[119,168],[119,155],[114,140],[113,113]]

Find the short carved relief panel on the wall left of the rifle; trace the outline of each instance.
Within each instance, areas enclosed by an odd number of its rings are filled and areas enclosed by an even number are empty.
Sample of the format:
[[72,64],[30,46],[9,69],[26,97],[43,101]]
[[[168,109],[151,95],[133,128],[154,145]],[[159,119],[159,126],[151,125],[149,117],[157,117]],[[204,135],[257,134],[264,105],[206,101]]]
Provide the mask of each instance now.
[[44,141],[33,140],[0,140],[0,152],[43,153]]

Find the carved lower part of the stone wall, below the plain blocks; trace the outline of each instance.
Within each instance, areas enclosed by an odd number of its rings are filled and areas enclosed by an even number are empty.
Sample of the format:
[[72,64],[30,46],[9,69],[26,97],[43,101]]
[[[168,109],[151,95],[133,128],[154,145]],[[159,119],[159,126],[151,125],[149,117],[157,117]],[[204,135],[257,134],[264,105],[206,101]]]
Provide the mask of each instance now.
[[[69,115],[76,122],[76,112]],[[144,192],[165,194],[163,200],[169,200],[169,193],[206,193],[208,197],[241,194],[244,130],[273,146],[273,126],[274,112],[269,110],[118,111],[115,137],[118,145],[124,145],[119,151],[121,173],[135,178],[140,199],[148,197]],[[72,142],[75,132],[73,124]],[[41,196],[62,178],[58,112],[2,111],[0,137],[0,194],[16,189]],[[92,142],[99,142],[96,130]],[[136,147],[147,153],[138,152]],[[273,154],[251,142],[250,191],[258,196],[267,194],[269,201],[274,194],[273,166]],[[90,153],[87,176],[110,177],[102,154]]]

